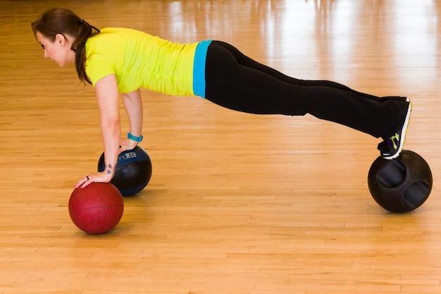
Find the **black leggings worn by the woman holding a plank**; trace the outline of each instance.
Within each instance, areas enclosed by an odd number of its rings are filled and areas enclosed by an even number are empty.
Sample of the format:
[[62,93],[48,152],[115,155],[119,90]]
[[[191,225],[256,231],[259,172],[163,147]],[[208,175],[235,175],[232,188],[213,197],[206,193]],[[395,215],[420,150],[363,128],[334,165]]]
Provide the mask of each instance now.
[[297,80],[264,66],[225,42],[206,56],[206,99],[251,114],[334,121],[374,137],[390,137],[404,121],[405,97],[376,97],[326,80]]

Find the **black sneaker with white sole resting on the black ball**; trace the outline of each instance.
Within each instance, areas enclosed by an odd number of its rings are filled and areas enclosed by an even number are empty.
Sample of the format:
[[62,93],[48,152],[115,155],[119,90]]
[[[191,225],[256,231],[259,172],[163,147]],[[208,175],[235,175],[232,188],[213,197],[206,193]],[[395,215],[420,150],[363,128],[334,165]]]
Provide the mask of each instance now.
[[409,102],[406,118],[402,127],[397,132],[389,137],[387,140],[378,144],[378,150],[385,159],[395,159],[403,150],[404,140],[406,140],[407,126],[411,117],[412,104]]

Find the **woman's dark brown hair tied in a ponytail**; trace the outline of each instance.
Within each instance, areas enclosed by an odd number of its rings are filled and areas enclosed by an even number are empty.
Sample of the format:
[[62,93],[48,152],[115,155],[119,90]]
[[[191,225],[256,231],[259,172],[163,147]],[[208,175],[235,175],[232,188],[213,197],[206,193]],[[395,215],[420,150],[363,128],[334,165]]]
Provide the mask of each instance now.
[[99,33],[97,27],[89,25],[89,23],[68,9],[52,8],[32,23],[32,30],[36,39],[37,32],[40,32],[52,42],[55,41],[55,37],[58,34],[65,37],[69,35],[75,38],[70,49],[75,51],[75,68],[77,68],[78,78],[84,83],[92,84],[92,81],[87,77],[85,68],[85,45],[89,37]]

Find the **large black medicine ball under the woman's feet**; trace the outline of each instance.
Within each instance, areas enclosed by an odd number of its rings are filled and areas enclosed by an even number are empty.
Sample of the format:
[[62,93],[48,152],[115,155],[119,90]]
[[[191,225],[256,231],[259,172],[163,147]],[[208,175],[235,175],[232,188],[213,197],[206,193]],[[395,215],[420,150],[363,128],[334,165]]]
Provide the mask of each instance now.
[[390,212],[410,212],[420,207],[428,199],[432,184],[427,162],[409,150],[392,160],[378,157],[368,173],[373,199]]

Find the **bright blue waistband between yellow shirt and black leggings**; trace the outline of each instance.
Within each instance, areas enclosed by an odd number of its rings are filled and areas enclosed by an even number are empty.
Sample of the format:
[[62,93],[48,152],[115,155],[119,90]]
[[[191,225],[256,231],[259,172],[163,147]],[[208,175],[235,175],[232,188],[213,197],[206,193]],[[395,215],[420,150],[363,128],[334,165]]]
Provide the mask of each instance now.
[[205,98],[205,63],[206,52],[209,50],[211,39],[199,42],[194,54],[193,63],[193,92],[195,95]]

